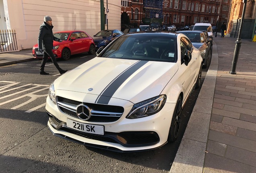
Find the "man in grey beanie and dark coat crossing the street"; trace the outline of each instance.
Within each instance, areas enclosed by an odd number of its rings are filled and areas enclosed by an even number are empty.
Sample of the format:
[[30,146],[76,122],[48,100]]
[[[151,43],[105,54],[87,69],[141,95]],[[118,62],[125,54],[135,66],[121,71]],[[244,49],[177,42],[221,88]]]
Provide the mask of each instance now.
[[43,52],[43,59],[40,66],[40,74],[42,75],[48,75],[49,73],[44,71],[44,67],[46,64],[46,61],[48,57],[52,59],[52,62],[56,66],[56,68],[59,70],[60,74],[64,74],[68,70],[62,70],[60,68],[59,64],[57,63],[56,57],[54,56],[54,53],[52,52],[53,49],[53,40],[56,40],[56,38],[53,36],[52,33],[52,18],[50,16],[44,16],[43,24],[41,24],[39,29],[39,35],[38,35],[38,51]]

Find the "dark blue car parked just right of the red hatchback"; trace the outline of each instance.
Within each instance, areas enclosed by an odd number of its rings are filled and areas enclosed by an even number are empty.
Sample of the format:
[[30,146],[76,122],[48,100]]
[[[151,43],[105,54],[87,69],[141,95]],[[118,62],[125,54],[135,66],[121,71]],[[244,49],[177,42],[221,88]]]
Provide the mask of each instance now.
[[123,35],[124,33],[120,30],[101,30],[93,36],[93,40],[98,50],[101,46],[107,46],[111,41],[117,37]]

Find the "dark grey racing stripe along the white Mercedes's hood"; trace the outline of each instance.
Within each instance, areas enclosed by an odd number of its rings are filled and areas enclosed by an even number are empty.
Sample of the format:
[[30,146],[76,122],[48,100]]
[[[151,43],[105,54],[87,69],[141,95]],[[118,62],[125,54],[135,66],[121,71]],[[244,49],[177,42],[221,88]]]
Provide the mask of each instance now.
[[95,103],[99,104],[108,104],[111,97],[114,95],[116,90],[124,83],[124,81],[130,77],[136,70],[140,67],[144,66],[148,61],[138,61],[129,68],[127,68],[124,72],[122,72],[119,76],[117,76],[108,86],[103,90],[103,92],[96,99]]

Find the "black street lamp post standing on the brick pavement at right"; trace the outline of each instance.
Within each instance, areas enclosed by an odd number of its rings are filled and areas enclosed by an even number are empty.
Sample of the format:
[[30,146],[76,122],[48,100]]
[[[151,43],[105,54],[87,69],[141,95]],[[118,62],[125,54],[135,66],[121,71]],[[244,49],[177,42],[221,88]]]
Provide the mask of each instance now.
[[240,24],[240,27],[239,27],[237,40],[235,41],[234,56],[233,56],[232,66],[231,66],[231,70],[230,70],[229,74],[236,74],[235,68],[236,68],[236,65],[237,65],[239,51],[240,51],[241,44],[242,44],[240,37],[241,37],[241,32],[242,32],[242,26],[243,26],[243,23],[244,23],[244,15],[245,15],[245,12],[246,12],[247,0],[243,0],[243,3],[244,3],[244,8],[243,8],[243,13],[242,13],[242,18],[241,18],[241,24]]

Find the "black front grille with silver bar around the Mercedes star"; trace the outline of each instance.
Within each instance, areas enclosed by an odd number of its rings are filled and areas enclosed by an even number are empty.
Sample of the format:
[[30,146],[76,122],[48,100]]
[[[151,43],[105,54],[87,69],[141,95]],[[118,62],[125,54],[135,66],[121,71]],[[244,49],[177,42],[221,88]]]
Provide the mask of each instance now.
[[91,118],[87,120],[88,122],[114,122],[118,121],[124,113],[124,108],[120,106],[82,103],[59,96],[57,103],[63,113],[66,113],[76,119],[79,119],[76,114],[76,107],[81,104],[86,105],[91,110]]

